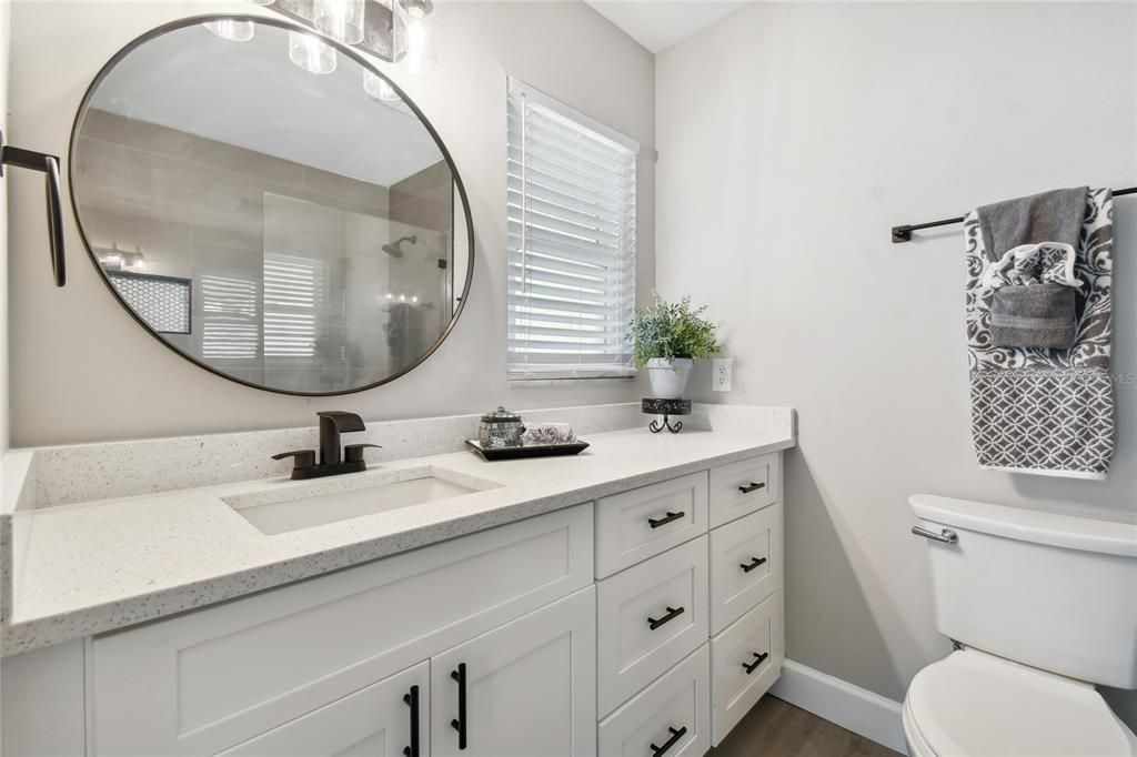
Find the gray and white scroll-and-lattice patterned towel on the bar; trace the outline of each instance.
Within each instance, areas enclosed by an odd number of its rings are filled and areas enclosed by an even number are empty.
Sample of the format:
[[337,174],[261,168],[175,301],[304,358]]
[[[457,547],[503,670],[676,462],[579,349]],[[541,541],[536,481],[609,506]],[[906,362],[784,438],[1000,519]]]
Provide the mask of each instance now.
[[979,465],[1014,473],[1104,479],[1113,456],[1110,376],[1113,194],[1086,200],[1074,274],[1077,339],[1069,350],[996,347],[978,213],[964,219],[971,436]]

